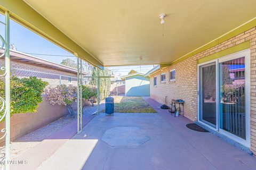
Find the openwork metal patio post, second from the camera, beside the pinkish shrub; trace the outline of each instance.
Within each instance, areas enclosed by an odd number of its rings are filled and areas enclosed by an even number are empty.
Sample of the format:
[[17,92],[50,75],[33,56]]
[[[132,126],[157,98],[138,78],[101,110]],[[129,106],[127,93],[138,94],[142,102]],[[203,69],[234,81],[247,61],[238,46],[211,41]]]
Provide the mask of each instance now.
[[82,59],[77,57],[77,134],[82,131]]

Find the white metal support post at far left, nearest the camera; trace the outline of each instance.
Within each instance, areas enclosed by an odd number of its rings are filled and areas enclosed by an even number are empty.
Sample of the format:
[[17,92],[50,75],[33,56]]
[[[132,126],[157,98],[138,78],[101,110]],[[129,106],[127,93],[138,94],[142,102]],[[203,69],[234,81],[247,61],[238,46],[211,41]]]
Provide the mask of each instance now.
[[5,169],[10,169],[10,19],[5,11]]

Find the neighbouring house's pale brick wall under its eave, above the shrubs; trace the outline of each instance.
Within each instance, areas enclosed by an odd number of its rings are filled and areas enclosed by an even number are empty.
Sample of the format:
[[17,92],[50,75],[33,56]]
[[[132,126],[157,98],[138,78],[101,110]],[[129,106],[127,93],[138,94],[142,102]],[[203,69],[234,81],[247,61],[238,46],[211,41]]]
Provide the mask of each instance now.
[[[4,65],[4,61],[0,60],[0,66]],[[47,87],[55,87],[60,84],[77,86],[77,74],[66,73],[54,69],[46,69],[44,67],[28,65],[24,63],[11,61],[11,73],[18,77],[37,77],[43,81],[48,82]],[[71,77],[71,82],[68,81],[68,77]]]

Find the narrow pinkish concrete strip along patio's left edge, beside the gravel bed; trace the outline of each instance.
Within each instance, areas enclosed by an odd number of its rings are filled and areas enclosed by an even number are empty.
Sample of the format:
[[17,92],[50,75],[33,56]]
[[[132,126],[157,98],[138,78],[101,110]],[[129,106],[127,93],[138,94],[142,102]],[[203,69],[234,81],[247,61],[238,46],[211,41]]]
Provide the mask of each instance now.
[[[100,109],[104,107],[104,104],[100,105]],[[95,115],[91,115],[97,107],[90,109],[89,112],[85,111],[83,114],[83,127],[89,123]],[[61,130],[50,135],[43,141],[39,142],[36,146],[23,152],[15,160],[25,160],[27,164],[11,164],[12,170],[35,170],[43,162],[49,159],[56,151],[58,151],[61,146],[68,142],[77,133],[77,119],[74,119],[71,123],[64,126]]]

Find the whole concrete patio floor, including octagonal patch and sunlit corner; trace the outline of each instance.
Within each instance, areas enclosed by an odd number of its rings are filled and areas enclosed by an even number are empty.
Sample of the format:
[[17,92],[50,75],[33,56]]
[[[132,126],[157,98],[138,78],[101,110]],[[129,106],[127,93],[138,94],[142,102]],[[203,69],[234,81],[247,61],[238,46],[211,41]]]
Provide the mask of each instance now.
[[[40,145],[43,150],[33,149],[27,156],[32,154],[30,160],[44,159],[41,166],[34,166],[40,170],[256,169],[255,157],[212,133],[188,129],[186,124],[191,121],[187,118],[174,117],[159,109],[161,104],[155,100],[143,99],[158,113],[100,114],[71,139],[56,135],[55,139],[66,140],[61,146],[60,141],[52,140]],[[49,151],[44,149],[52,150],[46,147],[55,151],[45,154]],[[37,152],[33,155],[32,151]]]

